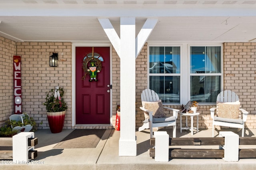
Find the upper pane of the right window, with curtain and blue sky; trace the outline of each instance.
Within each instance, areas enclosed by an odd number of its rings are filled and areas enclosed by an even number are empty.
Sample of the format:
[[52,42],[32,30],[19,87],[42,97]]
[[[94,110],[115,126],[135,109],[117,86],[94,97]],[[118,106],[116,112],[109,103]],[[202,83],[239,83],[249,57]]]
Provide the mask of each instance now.
[[190,73],[220,73],[221,47],[190,47]]

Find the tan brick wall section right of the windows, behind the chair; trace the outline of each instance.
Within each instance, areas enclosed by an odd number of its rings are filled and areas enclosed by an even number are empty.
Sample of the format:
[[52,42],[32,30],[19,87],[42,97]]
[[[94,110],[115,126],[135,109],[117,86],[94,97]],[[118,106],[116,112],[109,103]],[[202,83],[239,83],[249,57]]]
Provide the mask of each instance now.
[[256,43],[224,43],[224,90],[239,96],[249,114],[246,128],[256,128]]

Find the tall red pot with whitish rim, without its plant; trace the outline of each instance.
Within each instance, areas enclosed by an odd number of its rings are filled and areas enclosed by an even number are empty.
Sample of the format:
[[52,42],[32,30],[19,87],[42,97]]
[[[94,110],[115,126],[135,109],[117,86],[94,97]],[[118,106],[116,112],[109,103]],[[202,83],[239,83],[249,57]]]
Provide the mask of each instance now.
[[66,111],[47,112],[49,127],[52,133],[60,133],[64,125]]

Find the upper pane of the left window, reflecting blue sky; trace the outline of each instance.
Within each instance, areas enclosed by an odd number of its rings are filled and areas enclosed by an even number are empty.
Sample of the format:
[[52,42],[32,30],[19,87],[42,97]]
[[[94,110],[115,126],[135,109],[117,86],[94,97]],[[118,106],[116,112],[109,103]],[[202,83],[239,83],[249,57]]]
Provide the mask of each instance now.
[[180,73],[180,47],[149,47],[149,73]]

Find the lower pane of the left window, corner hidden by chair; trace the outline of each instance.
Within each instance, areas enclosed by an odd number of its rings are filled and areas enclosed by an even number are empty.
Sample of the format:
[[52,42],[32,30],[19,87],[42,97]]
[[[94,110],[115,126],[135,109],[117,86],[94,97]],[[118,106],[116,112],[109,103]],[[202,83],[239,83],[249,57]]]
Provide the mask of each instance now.
[[150,76],[149,81],[163,103],[180,103],[180,76]]

